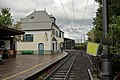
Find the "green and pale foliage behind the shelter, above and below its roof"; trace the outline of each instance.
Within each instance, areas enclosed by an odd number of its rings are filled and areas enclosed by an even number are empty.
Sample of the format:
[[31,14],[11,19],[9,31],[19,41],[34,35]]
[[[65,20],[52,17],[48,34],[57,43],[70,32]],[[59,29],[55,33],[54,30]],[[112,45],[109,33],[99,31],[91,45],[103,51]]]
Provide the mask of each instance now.
[[[21,30],[21,22],[17,21],[13,25],[13,19],[10,13],[10,8],[3,8],[0,13],[0,27],[9,27],[16,30]],[[22,35],[14,36],[14,42],[22,42]]]

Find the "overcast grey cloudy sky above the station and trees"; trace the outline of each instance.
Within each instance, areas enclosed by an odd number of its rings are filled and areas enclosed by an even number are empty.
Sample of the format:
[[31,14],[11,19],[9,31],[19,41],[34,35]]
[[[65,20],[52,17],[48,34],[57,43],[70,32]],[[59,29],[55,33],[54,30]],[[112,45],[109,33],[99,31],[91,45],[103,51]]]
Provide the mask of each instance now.
[[98,5],[95,3],[93,11],[94,0],[88,0],[88,5],[83,18],[87,0],[73,0],[73,5],[72,0],[61,1],[68,20],[60,0],[0,0],[0,7],[10,8],[14,20],[20,20],[21,18],[26,17],[35,9],[36,11],[46,9],[49,14],[52,14],[56,18],[57,25],[65,32],[65,37],[78,41],[78,39],[80,40],[81,37],[83,38],[83,35],[93,27],[92,18],[95,17]]

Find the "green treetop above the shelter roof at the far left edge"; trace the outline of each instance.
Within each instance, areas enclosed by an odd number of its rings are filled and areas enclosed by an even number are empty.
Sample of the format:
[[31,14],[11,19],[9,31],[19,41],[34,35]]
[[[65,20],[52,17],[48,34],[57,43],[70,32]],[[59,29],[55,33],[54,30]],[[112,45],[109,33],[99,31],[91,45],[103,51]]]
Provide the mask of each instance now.
[[3,8],[0,12],[0,26],[9,27],[12,25],[10,8]]

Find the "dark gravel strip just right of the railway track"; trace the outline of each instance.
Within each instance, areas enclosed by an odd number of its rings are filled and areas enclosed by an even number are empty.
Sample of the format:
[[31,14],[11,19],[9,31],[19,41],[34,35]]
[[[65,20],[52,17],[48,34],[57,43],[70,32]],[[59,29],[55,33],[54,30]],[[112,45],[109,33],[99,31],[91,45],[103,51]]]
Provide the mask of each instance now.
[[78,53],[76,62],[73,66],[73,70],[75,71],[74,80],[90,80],[88,69],[91,68],[90,61],[85,53]]

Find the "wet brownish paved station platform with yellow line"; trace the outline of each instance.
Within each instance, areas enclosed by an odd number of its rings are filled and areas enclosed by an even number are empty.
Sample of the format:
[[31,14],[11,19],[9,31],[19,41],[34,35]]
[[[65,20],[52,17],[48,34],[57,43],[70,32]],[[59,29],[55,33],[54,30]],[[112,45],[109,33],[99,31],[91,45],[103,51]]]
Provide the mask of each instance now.
[[4,65],[0,65],[0,80],[24,80],[66,55],[67,53],[56,55],[17,55],[16,58],[6,59],[4,60]]

